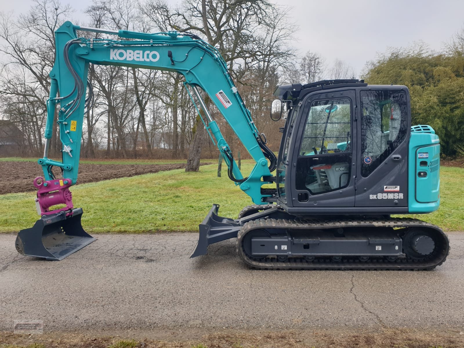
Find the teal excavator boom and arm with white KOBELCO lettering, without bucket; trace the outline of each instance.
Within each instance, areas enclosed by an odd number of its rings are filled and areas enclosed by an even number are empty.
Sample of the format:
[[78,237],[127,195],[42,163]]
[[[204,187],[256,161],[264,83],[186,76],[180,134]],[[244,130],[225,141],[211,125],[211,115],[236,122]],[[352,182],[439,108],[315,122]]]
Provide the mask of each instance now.
[[[77,38],[76,30],[106,32],[118,35],[119,38]],[[44,158],[39,160],[45,180],[54,179],[50,168],[58,166],[63,169],[64,178],[70,178],[72,184],[77,181],[84,109],[85,105],[90,103],[90,97],[85,99],[89,63],[128,66],[174,71],[185,77],[185,84],[193,89],[200,105],[205,109],[208,118],[206,128],[212,135],[213,142],[216,142],[227,166],[232,169],[231,179],[240,185],[254,203],[264,203],[264,197],[269,195],[261,194],[261,186],[266,183],[262,178],[270,176],[275,168],[275,155],[261,141],[250,112],[245,108],[227,71],[226,63],[213,46],[200,39],[181,36],[176,32],[148,34],[123,30],[107,31],[75,26],[71,22],[65,22],[55,32],[55,39],[57,54],[50,73],[52,86],[47,101],[45,151]],[[197,87],[204,90],[211,98],[256,162],[248,177],[244,178],[235,165],[230,147],[217,123],[206,110]],[[57,97],[58,91],[60,97]],[[48,140],[52,137],[53,116],[58,103],[60,104],[58,127],[63,144],[63,162],[47,158]],[[271,160],[270,168],[268,168],[268,158]]]

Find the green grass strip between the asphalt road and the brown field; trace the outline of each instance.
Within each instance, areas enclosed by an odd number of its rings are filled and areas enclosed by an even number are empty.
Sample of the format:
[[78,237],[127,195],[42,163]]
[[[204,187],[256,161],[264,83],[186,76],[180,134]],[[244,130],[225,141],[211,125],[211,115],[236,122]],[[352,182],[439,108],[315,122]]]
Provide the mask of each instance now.
[[[243,161],[243,173],[251,171]],[[216,176],[217,165],[202,166],[198,173],[184,169],[144,174],[72,187],[74,206],[83,207],[82,225],[98,232],[198,231],[213,203],[219,214],[237,217],[251,200],[229,180],[226,170]],[[432,222],[447,231],[462,231],[464,220],[464,169],[441,168],[441,206],[427,215],[407,215]],[[0,195],[0,232],[18,232],[36,219],[35,193]]]

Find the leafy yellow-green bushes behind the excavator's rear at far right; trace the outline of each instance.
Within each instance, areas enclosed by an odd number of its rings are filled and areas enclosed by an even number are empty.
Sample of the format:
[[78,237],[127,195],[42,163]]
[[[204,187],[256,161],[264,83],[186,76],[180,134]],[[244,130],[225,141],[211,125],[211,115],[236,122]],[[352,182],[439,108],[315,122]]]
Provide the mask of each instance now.
[[368,62],[369,84],[403,84],[411,95],[412,124],[428,124],[440,137],[442,155],[464,151],[464,29],[445,43],[443,52],[419,42],[391,48]]

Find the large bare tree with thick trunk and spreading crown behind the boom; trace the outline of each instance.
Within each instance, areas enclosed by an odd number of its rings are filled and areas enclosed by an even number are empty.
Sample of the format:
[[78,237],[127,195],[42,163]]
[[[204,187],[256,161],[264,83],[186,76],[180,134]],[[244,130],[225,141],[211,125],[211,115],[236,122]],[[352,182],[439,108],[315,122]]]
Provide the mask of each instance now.
[[[284,47],[289,35],[282,30],[284,13],[279,13],[266,0],[186,0],[175,9],[170,9],[162,0],[151,0],[144,6],[144,13],[159,28],[193,31],[205,37],[210,45],[218,48],[229,71],[238,80],[251,68],[261,65],[263,71],[269,69],[266,64],[272,64],[277,59],[276,52],[281,52],[275,47]],[[284,47],[281,57],[288,57],[289,47]],[[200,118],[192,134],[186,171],[199,169],[201,146],[206,137]]]

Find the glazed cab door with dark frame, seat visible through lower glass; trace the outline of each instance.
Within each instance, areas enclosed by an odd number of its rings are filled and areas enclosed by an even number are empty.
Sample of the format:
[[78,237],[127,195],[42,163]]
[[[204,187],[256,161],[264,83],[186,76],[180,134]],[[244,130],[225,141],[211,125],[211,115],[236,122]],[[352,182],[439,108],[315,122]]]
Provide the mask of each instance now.
[[289,206],[354,206],[355,112],[354,90],[312,94],[303,99],[293,143]]

